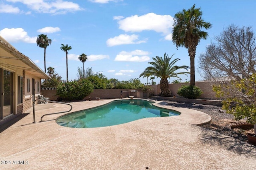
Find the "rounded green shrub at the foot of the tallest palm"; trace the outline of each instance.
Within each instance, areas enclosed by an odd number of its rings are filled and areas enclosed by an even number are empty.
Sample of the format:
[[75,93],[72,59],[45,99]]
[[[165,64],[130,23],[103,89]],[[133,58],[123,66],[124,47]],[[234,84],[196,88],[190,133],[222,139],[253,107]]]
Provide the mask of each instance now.
[[198,86],[192,85],[183,85],[178,88],[178,95],[189,98],[189,99],[198,99],[198,97],[203,93],[202,90]]

